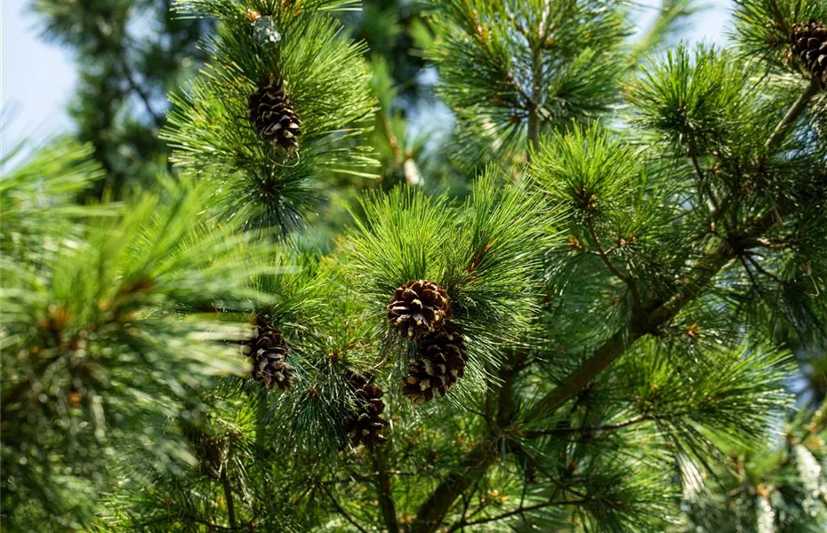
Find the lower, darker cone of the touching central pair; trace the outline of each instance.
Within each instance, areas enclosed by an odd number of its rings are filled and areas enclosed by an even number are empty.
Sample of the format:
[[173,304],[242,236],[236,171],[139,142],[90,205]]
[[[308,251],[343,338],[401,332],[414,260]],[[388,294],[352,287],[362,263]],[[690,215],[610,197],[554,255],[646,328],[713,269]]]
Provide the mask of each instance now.
[[443,330],[423,337],[419,352],[421,357],[408,367],[402,386],[402,394],[413,402],[430,402],[434,391],[445,396],[465,375],[468,349],[454,326],[446,325]]

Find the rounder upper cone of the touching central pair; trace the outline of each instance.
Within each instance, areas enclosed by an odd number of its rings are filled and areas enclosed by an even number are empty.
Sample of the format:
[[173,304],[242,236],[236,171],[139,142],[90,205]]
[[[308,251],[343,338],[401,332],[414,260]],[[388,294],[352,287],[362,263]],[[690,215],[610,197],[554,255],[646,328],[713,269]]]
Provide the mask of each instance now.
[[390,298],[388,321],[402,337],[417,339],[451,318],[451,298],[436,282],[412,280]]

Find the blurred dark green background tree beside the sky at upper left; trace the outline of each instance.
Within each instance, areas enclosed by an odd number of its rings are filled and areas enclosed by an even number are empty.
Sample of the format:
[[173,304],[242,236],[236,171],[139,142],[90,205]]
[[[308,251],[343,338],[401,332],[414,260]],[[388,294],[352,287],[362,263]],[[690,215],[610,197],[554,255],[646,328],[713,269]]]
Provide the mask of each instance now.
[[[20,2],[20,4],[24,4]],[[31,0],[46,39],[76,57],[78,84],[69,115],[76,137],[94,147],[106,171],[85,197],[120,197],[148,186],[166,168],[158,139],[166,95],[207,59],[199,40],[211,20],[174,16],[172,0]]]

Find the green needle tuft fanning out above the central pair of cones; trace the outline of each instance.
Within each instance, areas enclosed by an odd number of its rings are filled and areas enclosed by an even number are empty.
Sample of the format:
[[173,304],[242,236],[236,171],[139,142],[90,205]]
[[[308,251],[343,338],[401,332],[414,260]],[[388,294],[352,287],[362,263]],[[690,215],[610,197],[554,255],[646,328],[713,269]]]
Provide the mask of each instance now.
[[[438,282],[453,303],[454,322],[479,343],[484,362],[497,362],[502,343],[518,340],[536,310],[542,247],[558,239],[558,211],[545,211],[524,180],[494,169],[480,177],[461,207],[399,187],[368,196],[365,220],[346,244],[349,268],[377,322],[394,290],[410,280]],[[389,326],[384,325],[388,330]]]

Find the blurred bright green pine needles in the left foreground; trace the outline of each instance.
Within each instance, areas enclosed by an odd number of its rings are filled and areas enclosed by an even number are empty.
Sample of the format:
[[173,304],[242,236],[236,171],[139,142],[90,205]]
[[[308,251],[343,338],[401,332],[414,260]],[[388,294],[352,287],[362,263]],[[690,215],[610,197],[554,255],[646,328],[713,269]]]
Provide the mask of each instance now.
[[[140,448],[158,464],[193,460],[166,419],[186,409],[183,383],[237,370],[214,340],[245,331],[176,309],[256,298],[245,289],[253,270],[239,251],[266,253],[231,229],[194,224],[203,201],[188,187],[166,184],[163,200],[142,195],[116,221],[61,212],[67,192],[98,176],[67,148],[76,147],[50,149],[48,162],[37,156],[4,177],[3,219],[18,221],[9,228],[16,245],[3,252],[0,302],[2,513],[12,529],[38,521],[44,530],[76,528],[93,510],[78,493],[105,487],[107,466],[124,449]],[[50,175],[56,167],[68,173]],[[52,191],[50,220],[41,205]],[[39,240],[15,233],[55,220]]]

